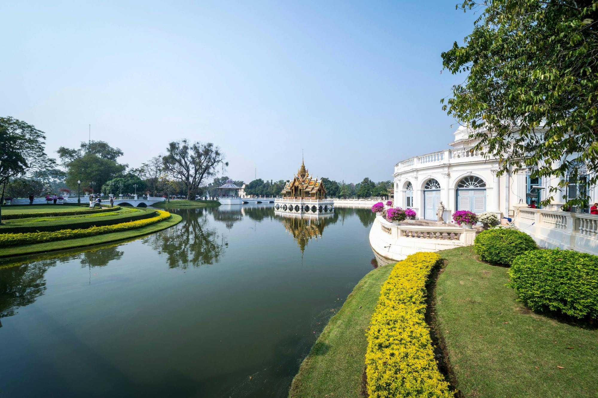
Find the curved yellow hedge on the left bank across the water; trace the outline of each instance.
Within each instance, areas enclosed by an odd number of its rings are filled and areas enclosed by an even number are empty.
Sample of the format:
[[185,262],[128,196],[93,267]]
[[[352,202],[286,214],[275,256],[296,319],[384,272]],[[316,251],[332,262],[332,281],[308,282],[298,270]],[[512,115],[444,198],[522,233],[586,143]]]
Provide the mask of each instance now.
[[91,226],[82,229],[60,229],[54,232],[24,232],[22,234],[0,234],[0,246],[16,246],[17,244],[30,244],[63,240],[72,238],[84,238],[94,235],[108,234],[109,232],[126,231],[127,229],[141,228],[154,224],[170,217],[169,212],[156,210],[157,216],[137,221],[121,222],[114,225]]

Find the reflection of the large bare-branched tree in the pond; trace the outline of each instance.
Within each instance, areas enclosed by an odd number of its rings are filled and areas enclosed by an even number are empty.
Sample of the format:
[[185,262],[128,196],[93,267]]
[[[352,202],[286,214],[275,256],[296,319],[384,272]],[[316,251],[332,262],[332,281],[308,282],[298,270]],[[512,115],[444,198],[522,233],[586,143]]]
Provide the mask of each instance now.
[[[166,255],[169,268],[187,269],[220,261],[228,242],[224,234],[210,226],[209,214],[215,221],[225,221],[228,229],[232,228],[232,212],[213,212],[213,209],[185,209],[177,213],[183,221],[161,231],[159,234],[143,238],[156,252]],[[238,213],[238,211],[237,211]],[[240,220],[240,218],[239,218]],[[230,227],[228,222],[230,222]]]

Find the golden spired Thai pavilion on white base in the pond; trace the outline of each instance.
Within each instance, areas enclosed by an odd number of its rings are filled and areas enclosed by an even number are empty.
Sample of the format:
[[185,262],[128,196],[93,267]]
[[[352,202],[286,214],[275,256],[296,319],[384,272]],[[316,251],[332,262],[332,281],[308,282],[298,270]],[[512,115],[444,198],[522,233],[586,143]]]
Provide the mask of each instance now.
[[274,201],[274,208],[283,212],[332,212],[334,203],[326,198],[322,179],[313,178],[301,162],[297,174],[282,189],[282,198]]

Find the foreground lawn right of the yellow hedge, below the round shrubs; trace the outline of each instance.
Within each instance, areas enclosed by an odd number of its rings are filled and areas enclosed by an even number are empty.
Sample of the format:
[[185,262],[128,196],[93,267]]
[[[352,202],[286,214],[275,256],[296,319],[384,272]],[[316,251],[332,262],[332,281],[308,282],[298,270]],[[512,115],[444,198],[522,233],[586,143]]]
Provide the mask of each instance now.
[[529,311],[505,287],[507,268],[478,261],[471,246],[439,254],[435,329],[465,397],[596,396],[598,330]]

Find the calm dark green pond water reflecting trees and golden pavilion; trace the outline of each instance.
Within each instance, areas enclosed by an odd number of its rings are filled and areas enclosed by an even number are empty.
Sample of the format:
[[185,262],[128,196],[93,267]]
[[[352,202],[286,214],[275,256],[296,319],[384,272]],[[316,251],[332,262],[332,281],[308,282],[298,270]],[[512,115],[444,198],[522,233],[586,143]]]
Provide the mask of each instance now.
[[1,397],[286,397],[376,264],[368,209],[170,211],[157,234],[0,270]]

